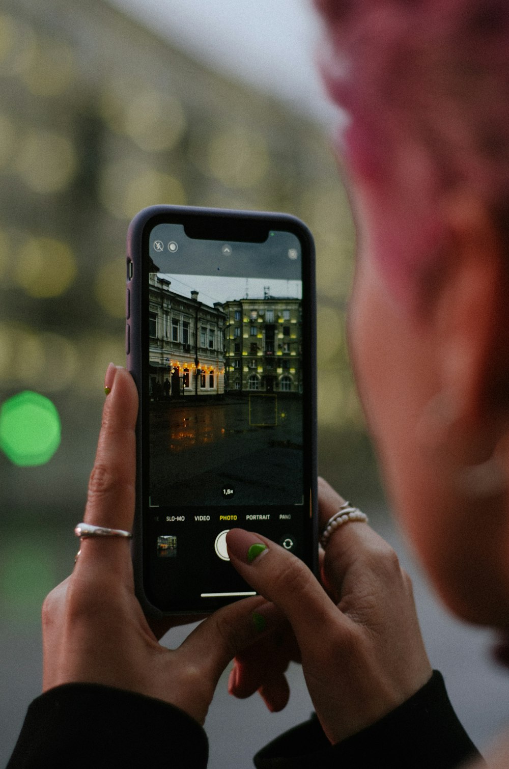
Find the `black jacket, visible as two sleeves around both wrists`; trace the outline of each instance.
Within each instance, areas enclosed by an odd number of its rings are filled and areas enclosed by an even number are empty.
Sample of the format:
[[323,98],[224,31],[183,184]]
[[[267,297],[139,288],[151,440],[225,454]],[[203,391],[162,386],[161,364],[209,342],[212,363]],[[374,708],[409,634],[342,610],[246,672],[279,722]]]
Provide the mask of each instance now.
[[[258,769],[453,769],[478,756],[437,671],[376,724],[331,745],[316,717],[255,756]],[[204,769],[205,731],[160,700],[96,684],[65,684],[37,697],[8,769]],[[225,767],[235,769],[235,767]]]

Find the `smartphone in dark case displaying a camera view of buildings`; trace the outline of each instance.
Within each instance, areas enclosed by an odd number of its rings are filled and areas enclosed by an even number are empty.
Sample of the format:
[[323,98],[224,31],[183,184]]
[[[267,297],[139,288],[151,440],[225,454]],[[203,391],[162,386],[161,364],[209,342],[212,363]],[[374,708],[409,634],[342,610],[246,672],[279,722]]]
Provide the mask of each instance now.
[[289,215],[156,206],[131,221],[139,394],[133,559],[147,614],[255,592],[232,527],[317,568],[314,244]]

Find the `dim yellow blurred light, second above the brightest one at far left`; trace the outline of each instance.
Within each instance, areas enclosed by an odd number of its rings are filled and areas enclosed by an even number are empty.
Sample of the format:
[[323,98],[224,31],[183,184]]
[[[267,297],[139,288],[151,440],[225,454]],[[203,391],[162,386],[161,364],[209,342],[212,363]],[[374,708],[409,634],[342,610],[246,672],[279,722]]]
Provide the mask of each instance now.
[[58,96],[75,78],[75,57],[65,42],[39,42],[36,55],[22,75],[28,90],[35,96]]

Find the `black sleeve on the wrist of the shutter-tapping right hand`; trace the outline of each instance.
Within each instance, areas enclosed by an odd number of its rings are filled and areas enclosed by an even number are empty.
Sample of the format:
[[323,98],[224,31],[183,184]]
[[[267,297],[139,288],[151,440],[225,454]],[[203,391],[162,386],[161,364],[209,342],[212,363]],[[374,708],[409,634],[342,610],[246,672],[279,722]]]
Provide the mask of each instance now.
[[453,769],[479,757],[434,671],[413,697],[363,731],[331,745],[316,716],[255,756],[257,769]]

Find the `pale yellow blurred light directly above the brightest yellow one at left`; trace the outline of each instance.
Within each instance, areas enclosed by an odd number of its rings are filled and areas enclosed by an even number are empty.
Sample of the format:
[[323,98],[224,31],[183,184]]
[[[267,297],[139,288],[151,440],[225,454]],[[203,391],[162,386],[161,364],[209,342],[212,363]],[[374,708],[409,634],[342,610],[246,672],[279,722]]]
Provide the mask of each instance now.
[[16,168],[35,192],[58,192],[74,178],[78,161],[67,136],[53,131],[31,131],[22,142]]

